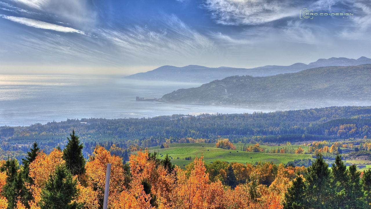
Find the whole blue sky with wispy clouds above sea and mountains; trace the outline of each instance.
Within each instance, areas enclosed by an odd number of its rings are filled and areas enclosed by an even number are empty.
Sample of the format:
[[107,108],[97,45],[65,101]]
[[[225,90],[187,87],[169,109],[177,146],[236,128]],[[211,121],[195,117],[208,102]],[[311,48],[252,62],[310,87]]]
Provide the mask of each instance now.
[[357,59],[371,57],[370,32],[369,0],[0,0],[0,73]]

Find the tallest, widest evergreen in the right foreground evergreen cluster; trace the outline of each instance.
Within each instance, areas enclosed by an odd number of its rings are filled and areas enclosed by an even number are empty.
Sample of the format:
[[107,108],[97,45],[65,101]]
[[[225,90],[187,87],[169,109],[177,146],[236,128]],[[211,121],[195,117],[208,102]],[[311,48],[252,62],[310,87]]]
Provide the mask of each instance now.
[[330,186],[330,171],[328,164],[317,155],[316,161],[308,167],[305,174],[306,179],[306,198],[311,208],[332,208],[331,203],[333,193]]

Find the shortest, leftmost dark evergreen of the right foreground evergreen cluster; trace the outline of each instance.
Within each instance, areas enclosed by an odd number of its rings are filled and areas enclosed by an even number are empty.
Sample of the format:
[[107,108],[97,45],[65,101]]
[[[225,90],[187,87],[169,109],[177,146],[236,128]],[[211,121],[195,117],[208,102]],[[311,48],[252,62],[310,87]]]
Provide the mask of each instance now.
[[301,176],[296,177],[292,182],[292,186],[285,194],[284,209],[304,209],[306,208],[305,200],[305,184]]

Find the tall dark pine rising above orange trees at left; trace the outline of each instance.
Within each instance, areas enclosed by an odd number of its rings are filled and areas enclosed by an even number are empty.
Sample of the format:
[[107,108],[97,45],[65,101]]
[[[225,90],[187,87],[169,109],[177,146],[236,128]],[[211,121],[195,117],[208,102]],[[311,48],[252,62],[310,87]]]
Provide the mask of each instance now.
[[67,137],[67,139],[68,143],[63,149],[63,159],[72,175],[80,175],[85,172],[85,158],[82,155],[83,145],[80,143],[79,137],[75,135],[75,130],[72,130],[70,138]]

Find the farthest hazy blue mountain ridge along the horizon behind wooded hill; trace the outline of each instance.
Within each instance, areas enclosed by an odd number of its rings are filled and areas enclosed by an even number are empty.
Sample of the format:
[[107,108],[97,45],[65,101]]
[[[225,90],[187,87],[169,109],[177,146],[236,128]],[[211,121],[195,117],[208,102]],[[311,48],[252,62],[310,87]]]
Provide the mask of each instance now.
[[267,65],[250,69],[235,67],[205,67],[198,65],[188,65],[184,67],[165,65],[145,73],[132,74],[130,76],[126,76],[125,78],[137,80],[206,83],[236,75],[272,76],[282,73],[295,73],[313,67],[354,66],[360,64],[371,64],[371,59],[367,57],[359,57],[358,59],[331,57],[329,59],[318,59],[316,62],[309,64],[295,63],[289,66]]

